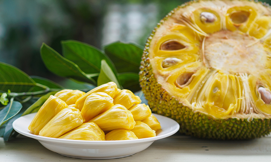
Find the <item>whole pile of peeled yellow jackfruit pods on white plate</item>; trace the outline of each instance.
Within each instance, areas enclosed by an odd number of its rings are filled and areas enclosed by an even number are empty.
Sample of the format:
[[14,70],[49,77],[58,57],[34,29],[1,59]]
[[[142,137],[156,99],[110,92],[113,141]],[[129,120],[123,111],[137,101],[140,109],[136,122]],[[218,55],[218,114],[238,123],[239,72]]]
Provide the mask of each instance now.
[[108,82],[85,93],[64,89],[51,95],[28,129],[31,134],[69,140],[134,140],[161,128],[151,109],[127,89]]

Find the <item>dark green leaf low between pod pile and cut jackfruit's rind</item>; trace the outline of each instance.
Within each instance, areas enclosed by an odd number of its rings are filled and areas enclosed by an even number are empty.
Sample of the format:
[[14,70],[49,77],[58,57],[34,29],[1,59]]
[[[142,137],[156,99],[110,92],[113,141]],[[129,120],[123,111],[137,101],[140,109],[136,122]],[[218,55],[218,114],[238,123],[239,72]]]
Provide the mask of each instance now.
[[125,89],[129,89],[132,92],[139,91],[139,75],[137,73],[119,73],[120,84]]

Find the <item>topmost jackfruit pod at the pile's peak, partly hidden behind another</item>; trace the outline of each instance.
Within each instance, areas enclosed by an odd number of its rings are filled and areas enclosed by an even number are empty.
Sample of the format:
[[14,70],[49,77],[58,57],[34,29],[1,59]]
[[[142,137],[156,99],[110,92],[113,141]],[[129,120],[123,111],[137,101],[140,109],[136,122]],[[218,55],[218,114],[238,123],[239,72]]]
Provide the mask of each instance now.
[[75,104],[77,105],[78,109],[81,111],[82,108],[83,108],[83,106],[84,106],[86,98],[90,94],[96,93],[96,92],[104,92],[107,95],[109,95],[112,98],[114,98],[115,95],[116,95],[117,89],[118,89],[118,87],[117,87],[116,83],[114,83],[114,82],[108,82],[106,84],[100,85],[100,86],[98,86],[98,87],[96,87],[96,88],[88,91],[85,95],[83,95],[80,98],[78,98]]

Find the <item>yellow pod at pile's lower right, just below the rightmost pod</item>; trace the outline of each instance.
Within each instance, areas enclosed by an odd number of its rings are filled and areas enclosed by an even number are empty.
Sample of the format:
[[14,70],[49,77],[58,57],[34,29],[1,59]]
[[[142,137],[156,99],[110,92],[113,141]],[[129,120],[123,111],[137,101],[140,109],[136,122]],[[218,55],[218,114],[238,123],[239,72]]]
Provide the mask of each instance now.
[[133,129],[131,129],[131,131],[136,134],[138,139],[156,136],[154,130],[152,130],[147,124],[140,121],[136,121],[136,125]]

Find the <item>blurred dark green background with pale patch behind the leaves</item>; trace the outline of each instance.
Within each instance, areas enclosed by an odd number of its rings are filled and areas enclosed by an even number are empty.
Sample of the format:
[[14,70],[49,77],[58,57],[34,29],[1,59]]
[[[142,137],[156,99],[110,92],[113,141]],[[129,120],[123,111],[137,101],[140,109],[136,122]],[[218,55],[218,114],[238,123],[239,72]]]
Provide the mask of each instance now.
[[118,40],[144,46],[157,22],[184,2],[1,0],[0,61],[20,68],[28,75],[51,79],[66,88],[84,88],[46,69],[39,54],[42,42],[59,53],[60,41],[68,39],[86,42],[100,49]]

